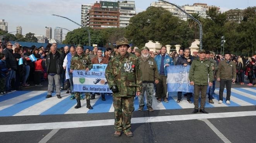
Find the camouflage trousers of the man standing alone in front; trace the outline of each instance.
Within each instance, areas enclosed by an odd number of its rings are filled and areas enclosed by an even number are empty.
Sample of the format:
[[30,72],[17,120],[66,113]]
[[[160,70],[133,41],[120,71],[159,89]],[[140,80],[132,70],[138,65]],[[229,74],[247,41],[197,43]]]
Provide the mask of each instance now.
[[116,131],[127,133],[131,130],[131,114],[134,111],[133,97],[118,97],[113,98]]

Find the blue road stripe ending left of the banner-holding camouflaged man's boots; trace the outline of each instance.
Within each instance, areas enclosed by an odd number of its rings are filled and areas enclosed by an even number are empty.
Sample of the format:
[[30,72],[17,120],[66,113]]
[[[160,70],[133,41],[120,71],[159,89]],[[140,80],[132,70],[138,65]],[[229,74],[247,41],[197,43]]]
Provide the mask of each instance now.
[[[70,96],[70,95],[66,95],[66,96]],[[56,98],[56,97],[54,97],[54,98]],[[56,100],[58,100],[58,98],[56,98]],[[52,106],[48,110],[44,111],[40,115],[64,114],[70,108],[72,108],[72,106],[74,106],[75,103],[77,103],[76,100],[70,100],[70,98],[68,97],[68,98],[62,100],[61,102],[59,102],[58,104],[55,104],[54,106]]]

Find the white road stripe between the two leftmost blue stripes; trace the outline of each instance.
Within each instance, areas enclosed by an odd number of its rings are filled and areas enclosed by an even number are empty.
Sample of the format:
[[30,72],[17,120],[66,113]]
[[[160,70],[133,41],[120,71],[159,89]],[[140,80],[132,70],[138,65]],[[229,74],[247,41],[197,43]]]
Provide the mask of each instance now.
[[33,98],[33,97],[35,97],[35,96],[37,96],[39,94],[42,94],[44,92],[46,92],[46,91],[32,91],[32,92],[29,92],[29,93],[17,96],[15,98],[11,98],[11,99],[2,101],[2,102],[0,102],[0,110],[8,108],[10,106],[13,106],[15,104],[18,104],[18,103],[20,103],[22,101],[25,101],[27,99]]

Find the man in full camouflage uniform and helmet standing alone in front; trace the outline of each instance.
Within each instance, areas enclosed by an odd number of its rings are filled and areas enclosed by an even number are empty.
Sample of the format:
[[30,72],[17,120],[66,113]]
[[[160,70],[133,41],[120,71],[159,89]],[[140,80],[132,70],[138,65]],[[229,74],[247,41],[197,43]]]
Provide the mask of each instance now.
[[119,54],[114,56],[106,68],[105,76],[113,92],[115,114],[114,136],[133,136],[131,132],[131,114],[134,111],[134,95],[142,92],[142,73],[138,58],[127,52],[130,45],[126,38],[116,41]]

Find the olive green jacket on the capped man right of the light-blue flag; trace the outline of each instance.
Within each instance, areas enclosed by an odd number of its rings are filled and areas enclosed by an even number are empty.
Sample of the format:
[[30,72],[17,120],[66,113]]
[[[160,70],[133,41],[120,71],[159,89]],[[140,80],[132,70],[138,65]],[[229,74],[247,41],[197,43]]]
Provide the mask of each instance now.
[[213,81],[212,64],[209,60],[201,61],[199,58],[195,59],[189,69],[189,80],[194,81],[195,85],[208,85]]

